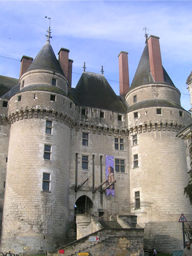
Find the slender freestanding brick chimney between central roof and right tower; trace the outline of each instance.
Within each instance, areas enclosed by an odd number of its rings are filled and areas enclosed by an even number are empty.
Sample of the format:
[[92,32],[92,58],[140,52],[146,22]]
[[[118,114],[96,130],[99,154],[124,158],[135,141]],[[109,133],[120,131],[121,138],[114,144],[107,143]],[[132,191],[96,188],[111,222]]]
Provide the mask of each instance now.
[[128,68],[128,53],[121,51],[119,58],[119,74],[120,74],[120,95],[125,97],[129,91],[129,68]]

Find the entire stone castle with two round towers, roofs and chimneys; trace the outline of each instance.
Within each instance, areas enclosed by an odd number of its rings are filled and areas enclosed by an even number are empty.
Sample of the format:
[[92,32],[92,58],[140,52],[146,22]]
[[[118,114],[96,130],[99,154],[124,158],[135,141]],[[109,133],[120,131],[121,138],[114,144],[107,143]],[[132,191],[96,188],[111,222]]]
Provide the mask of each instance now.
[[182,249],[178,220],[192,216],[176,133],[191,116],[162,66],[159,37],[147,39],[130,87],[127,53],[118,57],[120,96],[92,72],[71,88],[69,50],[57,60],[50,34],[34,60],[22,57],[15,86],[0,77],[1,251],[75,240],[75,214],[136,215],[146,248]]

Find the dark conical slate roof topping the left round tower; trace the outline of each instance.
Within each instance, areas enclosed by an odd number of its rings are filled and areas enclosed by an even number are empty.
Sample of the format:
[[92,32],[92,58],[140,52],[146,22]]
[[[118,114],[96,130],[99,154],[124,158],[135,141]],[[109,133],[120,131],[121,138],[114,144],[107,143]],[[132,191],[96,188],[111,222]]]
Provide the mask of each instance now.
[[65,75],[62,68],[60,67],[59,61],[54,54],[50,41],[46,41],[45,45],[37,54],[36,58],[33,60],[27,71],[32,71],[36,69],[48,69]]

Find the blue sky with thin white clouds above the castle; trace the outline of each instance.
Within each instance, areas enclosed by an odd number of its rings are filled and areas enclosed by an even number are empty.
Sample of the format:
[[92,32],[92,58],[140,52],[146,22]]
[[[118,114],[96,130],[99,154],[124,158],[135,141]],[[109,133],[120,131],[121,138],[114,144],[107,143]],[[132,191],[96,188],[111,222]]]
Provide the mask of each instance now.
[[[192,70],[192,1],[0,1],[0,75],[19,77],[23,55],[36,57],[46,42],[70,50],[72,87],[83,72],[100,73],[119,94],[118,54],[129,52],[132,82],[145,46],[144,31],[160,37],[162,64],[190,109],[186,80]],[[4,56],[4,57],[2,57]],[[15,59],[7,59],[5,57]]]

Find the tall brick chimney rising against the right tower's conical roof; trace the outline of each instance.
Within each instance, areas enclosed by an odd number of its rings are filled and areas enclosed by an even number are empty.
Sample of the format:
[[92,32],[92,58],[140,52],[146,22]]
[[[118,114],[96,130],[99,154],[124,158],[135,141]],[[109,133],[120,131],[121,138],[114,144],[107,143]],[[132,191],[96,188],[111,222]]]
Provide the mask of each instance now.
[[150,71],[155,82],[164,82],[162,71],[159,37],[150,36],[148,39]]

